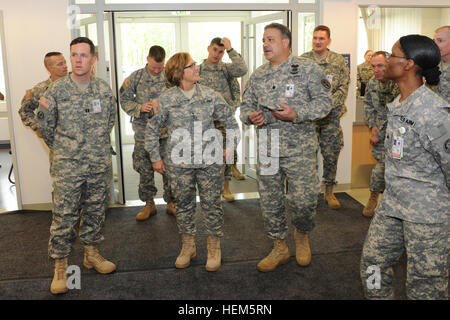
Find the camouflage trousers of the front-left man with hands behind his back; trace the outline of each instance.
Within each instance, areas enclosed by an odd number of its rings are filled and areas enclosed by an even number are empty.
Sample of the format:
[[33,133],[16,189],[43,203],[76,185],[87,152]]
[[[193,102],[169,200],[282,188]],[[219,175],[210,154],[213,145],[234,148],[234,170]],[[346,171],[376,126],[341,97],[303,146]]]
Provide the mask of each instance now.
[[[110,172],[53,178],[53,218],[48,245],[53,259],[67,257],[76,238],[75,227],[84,245],[103,240],[101,230],[109,203]],[[80,210],[80,205],[82,210]]]

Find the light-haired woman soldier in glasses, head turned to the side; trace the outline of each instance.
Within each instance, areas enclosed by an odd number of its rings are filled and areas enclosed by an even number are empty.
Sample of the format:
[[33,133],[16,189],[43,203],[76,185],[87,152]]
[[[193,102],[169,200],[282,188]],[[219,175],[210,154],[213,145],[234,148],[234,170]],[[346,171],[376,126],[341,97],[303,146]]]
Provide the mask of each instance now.
[[[196,256],[194,237],[198,187],[208,234],[206,270],[216,271],[221,265],[220,237],[223,236],[220,198],[224,180],[223,158],[226,156],[231,160],[240,140],[239,127],[223,97],[211,88],[196,84],[200,80],[199,67],[188,53],[173,55],[167,61],[165,72],[172,87],[159,97],[159,105],[154,106],[156,114],[146,128],[145,149],[155,171],[162,173],[167,170],[175,195],[177,224],[182,238],[182,249],[175,266],[186,268]],[[224,124],[228,140],[233,142],[232,145],[227,144],[225,152],[222,135],[215,129],[213,118]],[[161,160],[157,134],[163,126],[169,135],[166,161]],[[209,138],[206,138],[207,133]],[[214,140],[209,142],[210,138]],[[211,153],[213,145],[215,152]],[[210,158],[210,154],[215,158]]]

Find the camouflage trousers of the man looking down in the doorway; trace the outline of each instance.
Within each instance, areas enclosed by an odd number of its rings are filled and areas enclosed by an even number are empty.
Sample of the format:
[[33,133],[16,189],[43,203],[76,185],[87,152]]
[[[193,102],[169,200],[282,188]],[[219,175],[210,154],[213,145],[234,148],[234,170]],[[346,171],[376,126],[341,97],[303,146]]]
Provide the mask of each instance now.
[[[155,185],[155,171],[150,161],[150,156],[144,149],[145,126],[133,122],[134,130],[134,150],[133,150],[133,169],[139,173],[138,194],[139,199],[143,202],[151,200],[155,197],[158,189]],[[163,141],[161,141],[163,140]],[[162,157],[167,156],[165,145],[167,139],[160,140],[160,153]],[[170,202],[172,199],[170,185],[167,176],[163,175],[164,183],[164,201]]]

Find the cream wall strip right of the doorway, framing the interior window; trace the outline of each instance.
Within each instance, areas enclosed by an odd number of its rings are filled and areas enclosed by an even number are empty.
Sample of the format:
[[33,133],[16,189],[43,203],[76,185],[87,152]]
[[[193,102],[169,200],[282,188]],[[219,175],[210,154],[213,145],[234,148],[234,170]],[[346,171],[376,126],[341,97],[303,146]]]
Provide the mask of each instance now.
[[331,29],[330,49],[339,53],[350,53],[350,87],[347,98],[347,114],[341,119],[344,131],[344,149],[338,162],[337,181],[339,184],[351,182],[352,127],[356,109],[356,66],[358,54],[358,8],[379,5],[386,7],[449,7],[448,0],[323,0],[321,24]]

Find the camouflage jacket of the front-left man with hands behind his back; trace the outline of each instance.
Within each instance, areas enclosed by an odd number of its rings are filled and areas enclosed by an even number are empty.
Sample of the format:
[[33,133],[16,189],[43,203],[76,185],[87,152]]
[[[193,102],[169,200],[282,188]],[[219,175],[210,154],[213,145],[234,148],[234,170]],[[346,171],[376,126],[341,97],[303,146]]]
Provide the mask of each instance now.
[[116,115],[109,85],[92,77],[81,91],[71,76],[52,83],[39,101],[38,129],[53,149],[52,174],[108,172]]

